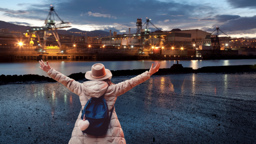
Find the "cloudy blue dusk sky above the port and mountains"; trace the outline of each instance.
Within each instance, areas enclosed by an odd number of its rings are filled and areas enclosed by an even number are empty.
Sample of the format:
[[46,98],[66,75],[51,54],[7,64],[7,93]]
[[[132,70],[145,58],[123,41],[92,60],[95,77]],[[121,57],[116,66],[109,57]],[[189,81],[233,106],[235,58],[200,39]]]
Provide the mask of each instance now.
[[231,37],[256,37],[256,0],[6,0],[0,4],[1,21],[25,26],[43,26],[49,5],[53,5],[72,28],[85,31],[120,34],[131,27],[136,33],[137,18],[144,24],[149,17],[163,31],[213,32],[218,26]]

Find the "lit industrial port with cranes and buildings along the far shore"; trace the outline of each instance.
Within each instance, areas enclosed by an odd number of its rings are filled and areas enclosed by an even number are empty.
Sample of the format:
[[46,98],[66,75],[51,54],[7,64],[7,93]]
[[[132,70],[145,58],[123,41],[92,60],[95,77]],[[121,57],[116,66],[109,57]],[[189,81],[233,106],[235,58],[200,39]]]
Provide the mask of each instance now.
[[[54,16],[61,22],[56,24]],[[60,35],[57,30],[72,27],[71,23],[64,22],[50,6],[43,27],[11,32],[12,36],[0,35],[0,62],[256,58],[255,38],[228,36],[219,27],[212,33],[179,28],[161,31],[151,21],[137,19],[136,33],[129,28],[127,34],[112,34],[110,30],[109,36],[103,37]],[[149,26],[157,30],[151,32]],[[7,31],[0,29],[1,33]]]

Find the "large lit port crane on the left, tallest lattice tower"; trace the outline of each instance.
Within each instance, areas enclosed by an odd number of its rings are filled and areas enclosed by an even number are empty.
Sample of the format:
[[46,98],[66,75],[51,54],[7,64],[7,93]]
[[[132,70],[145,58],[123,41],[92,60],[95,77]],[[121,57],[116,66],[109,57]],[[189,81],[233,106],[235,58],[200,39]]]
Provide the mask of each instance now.
[[[54,15],[59,18],[61,23],[56,24]],[[71,23],[64,22],[64,20],[61,20],[61,18],[58,16],[56,11],[54,11],[54,7],[51,5],[50,9],[49,9],[48,16],[46,17],[45,22],[43,24],[43,27],[31,27],[30,29],[26,30],[26,33],[27,33],[27,36],[28,36],[28,41],[30,40],[32,34],[37,35],[37,38],[38,38],[38,41],[39,41],[39,44],[40,44],[39,48],[42,48],[42,51],[45,52],[44,47],[46,45],[47,38],[52,35],[49,31],[52,31],[53,36],[55,37],[55,39],[56,39],[56,41],[59,45],[59,48],[61,50],[63,50],[61,48],[61,43],[59,41],[59,35],[58,35],[58,32],[57,32],[57,29],[67,28],[67,27],[72,27]],[[43,43],[40,40],[38,32],[44,32]]]

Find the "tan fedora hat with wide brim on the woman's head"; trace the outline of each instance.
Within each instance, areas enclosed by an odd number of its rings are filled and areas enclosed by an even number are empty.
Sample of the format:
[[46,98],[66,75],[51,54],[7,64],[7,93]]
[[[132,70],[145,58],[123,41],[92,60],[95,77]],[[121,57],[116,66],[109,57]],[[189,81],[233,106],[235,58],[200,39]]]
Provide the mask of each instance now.
[[85,73],[85,78],[88,80],[105,80],[112,77],[109,69],[105,69],[103,64],[93,64],[91,71]]

